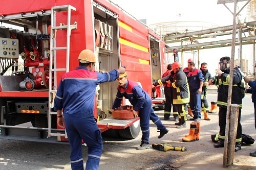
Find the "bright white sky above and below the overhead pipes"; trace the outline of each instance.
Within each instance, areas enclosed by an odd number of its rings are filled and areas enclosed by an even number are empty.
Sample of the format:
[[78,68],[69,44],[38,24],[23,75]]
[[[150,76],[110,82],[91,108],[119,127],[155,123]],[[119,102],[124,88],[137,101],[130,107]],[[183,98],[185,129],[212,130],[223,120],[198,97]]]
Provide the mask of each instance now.
[[[120,6],[126,12],[137,19],[146,19],[147,25],[169,22],[169,21],[203,21],[210,22],[219,27],[233,25],[234,4],[228,3],[226,6],[217,4],[218,0],[111,0]],[[246,4],[239,2],[237,12]],[[248,8],[245,7],[239,15],[243,22],[247,16]],[[229,38],[231,39],[231,37]],[[236,46],[234,59],[238,59],[239,46]],[[221,57],[231,56],[231,47],[212,48],[200,50],[200,63],[206,62],[208,70],[215,75],[215,69],[218,68],[218,62]],[[248,69],[252,71],[254,61],[252,45],[243,46],[243,59],[248,59]],[[188,58],[194,58],[191,53],[184,54],[184,61]],[[250,58],[250,59],[249,59]],[[183,67],[186,63],[183,64]],[[201,66],[201,65],[200,65]]]

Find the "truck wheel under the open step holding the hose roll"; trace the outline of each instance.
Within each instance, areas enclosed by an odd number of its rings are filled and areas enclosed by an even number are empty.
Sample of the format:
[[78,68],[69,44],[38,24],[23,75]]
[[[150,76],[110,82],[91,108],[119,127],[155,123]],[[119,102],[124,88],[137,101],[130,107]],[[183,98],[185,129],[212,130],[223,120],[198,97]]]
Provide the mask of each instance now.
[[135,139],[140,133],[140,120],[125,129],[119,129],[118,132],[122,138]]

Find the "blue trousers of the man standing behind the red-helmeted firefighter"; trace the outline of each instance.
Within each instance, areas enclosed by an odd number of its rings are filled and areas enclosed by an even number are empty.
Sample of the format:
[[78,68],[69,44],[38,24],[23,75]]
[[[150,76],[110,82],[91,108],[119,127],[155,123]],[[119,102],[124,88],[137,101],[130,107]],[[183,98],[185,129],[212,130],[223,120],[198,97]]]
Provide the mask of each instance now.
[[201,118],[201,94],[198,94],[197,91],[190,91],[189,106],[194,114],[193,118]]

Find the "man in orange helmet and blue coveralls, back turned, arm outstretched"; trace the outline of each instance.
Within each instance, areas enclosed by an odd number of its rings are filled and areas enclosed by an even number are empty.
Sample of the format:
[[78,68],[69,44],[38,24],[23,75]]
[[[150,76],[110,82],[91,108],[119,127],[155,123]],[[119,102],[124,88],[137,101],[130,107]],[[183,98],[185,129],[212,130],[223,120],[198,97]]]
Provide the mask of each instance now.
[[[57,111],[57,123],[66,128],[71,153],[71,168],[83,170],[82,140],[88,145],[87,170],[99,169],[103,149],[101,132],[94,118],[96,86],[114,81],[125,68],[108,73],[93,71],[95,55],[90,50],[83,50],[78,57],[79,67],[61,77],[54,100]],[[63,115],[62,115],[63,109]]]

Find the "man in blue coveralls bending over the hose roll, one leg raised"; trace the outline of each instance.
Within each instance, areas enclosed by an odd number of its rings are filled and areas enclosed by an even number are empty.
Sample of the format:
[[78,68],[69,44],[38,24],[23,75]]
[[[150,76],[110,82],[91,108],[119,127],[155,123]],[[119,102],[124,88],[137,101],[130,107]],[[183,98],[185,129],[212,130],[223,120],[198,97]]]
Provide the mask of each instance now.
[[148,95],[137,82],[127,80],[126,71],[124,74],[120,74],[117,82],[119,85],[117,87],[116,99],[112,109],[120,107],[121,101],[124,97],[133,105],[134,117],[138,117],[137,111],[139,111],[142,137],[141,144],[137,150],[148,149],[150,148],[150,120],[157,125],[157,129],[160,132],[158,138],[163,137],[168,133],[168,130],[154,112],[150,95]]

